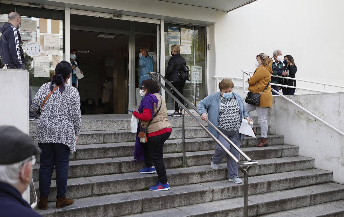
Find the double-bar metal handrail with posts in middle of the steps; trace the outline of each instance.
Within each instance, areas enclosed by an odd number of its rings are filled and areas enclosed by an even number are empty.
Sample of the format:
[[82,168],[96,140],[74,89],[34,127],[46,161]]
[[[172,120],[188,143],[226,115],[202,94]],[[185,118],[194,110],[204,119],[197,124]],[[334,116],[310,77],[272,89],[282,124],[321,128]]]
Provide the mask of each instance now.
[[[191,106],[196,112],[197,108],[185,98],[184,95],[182,95],[171,83],[166,80],[159,72],[148,72],[148,74],[174,99],[175,102],[177,102],[183,109],[182,115],[183,115],[183,165],[186,166],[186,157],[185,157],[185,111],[194,119],[194,121],[202,127],[202,129],[239,165],[239,169],[244,174],[244,216],[248,217],[248,171],[250,170],[250,166],[258,165],[258,161],[251,160],[243,151],[241,151],[230,139],[228,139],[215,125],[209,121],[209,119],[206,120],[208,125],[212,126],[217,133],[219,133],[223,138],[225,138],[230,145],[232,145],[248,162],[241,162],[239,161],[232,153],[229,152],[229,150],[212,134],[209,132],[209,130],[182,104],[160,81],[157,77],[154,76],[157,75],[161,79],[165,81],[166,84],[170,86],[170,88],[176,92],[185,102],[187,105]],[[198,112],[197,112],[198,113]]]

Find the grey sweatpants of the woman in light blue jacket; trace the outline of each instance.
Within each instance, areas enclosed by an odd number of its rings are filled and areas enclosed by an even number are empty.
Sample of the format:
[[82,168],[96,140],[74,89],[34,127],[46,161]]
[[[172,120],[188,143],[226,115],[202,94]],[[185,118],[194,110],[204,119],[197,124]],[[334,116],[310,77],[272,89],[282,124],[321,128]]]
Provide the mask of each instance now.
[[[240,148],[241,145],[241,134],[239,134],[239,130],[236,131],[227,131],[220,129],[227,138],[230,139],[236,146]],[[234,155],[238,160],[240,159],[240,153],[233,148],[225,138],[223,138],[220,134],[217,134],[217,139],[224,145],[230,153]],[[213,163],[219,164],[223,160],[223,158],[227,155],[227,153],[221,148],[220,145],[216,144],[215,146],[215,153],[213,156]],[[238,177],[238,164],[229,156],[227,156],[227,171],[229,179],[234,179]]]

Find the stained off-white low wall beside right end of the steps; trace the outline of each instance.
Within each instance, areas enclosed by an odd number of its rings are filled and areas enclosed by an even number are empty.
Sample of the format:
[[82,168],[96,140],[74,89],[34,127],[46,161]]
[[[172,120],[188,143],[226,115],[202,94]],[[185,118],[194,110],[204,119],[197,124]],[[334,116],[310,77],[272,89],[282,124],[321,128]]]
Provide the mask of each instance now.
[[[344,132],[344,93],[288,96],[305,109]],[[344,184],[344,136],[280,96],[268,110],[271,133],[299,146],[299,155],[315,159],[316,169],[333,172],[333,181]]]

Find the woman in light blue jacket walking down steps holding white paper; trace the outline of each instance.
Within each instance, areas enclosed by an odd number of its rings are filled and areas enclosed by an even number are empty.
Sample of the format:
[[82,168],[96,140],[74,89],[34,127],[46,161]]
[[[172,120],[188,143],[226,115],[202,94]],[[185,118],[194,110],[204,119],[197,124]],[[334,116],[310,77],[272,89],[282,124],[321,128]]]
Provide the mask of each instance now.
[[[249,118],[248,112],[241,96],[233,93],[234,84],[230,79],[223,79],[219,83],[219,92],[212,93],[197,104],[197,112],[205,121],[209,118],[227,138],[229,138],[236,146],[240,148],[241,139],[245,135],[239,133],[241,120],[247,119],[248,124],[252,119]],[[239,152],[230,146],[230,144],[216,130],[208,126],[208,130],[239,160]],[[226,156],[226,152],[216,144],[215,153],[212,157],[211,167],[217,170],[217,164],[221,163]],[[228,181],[235,183],[243,183],[238,177],[238,164],[227,156]]]

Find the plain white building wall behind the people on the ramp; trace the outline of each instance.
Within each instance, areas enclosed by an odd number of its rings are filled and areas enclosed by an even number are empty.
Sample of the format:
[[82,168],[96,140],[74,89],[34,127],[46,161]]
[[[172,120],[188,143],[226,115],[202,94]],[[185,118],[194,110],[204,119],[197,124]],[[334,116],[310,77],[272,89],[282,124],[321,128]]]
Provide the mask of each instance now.
[[280,49],[283,55],[294,57],[297,78],[343,85],[343,8],[342,0],[258,0],[228,13],[217,11],[216,75],[242,77],[240,69],[255,70],[257,54],[272,57],[273,50]]

